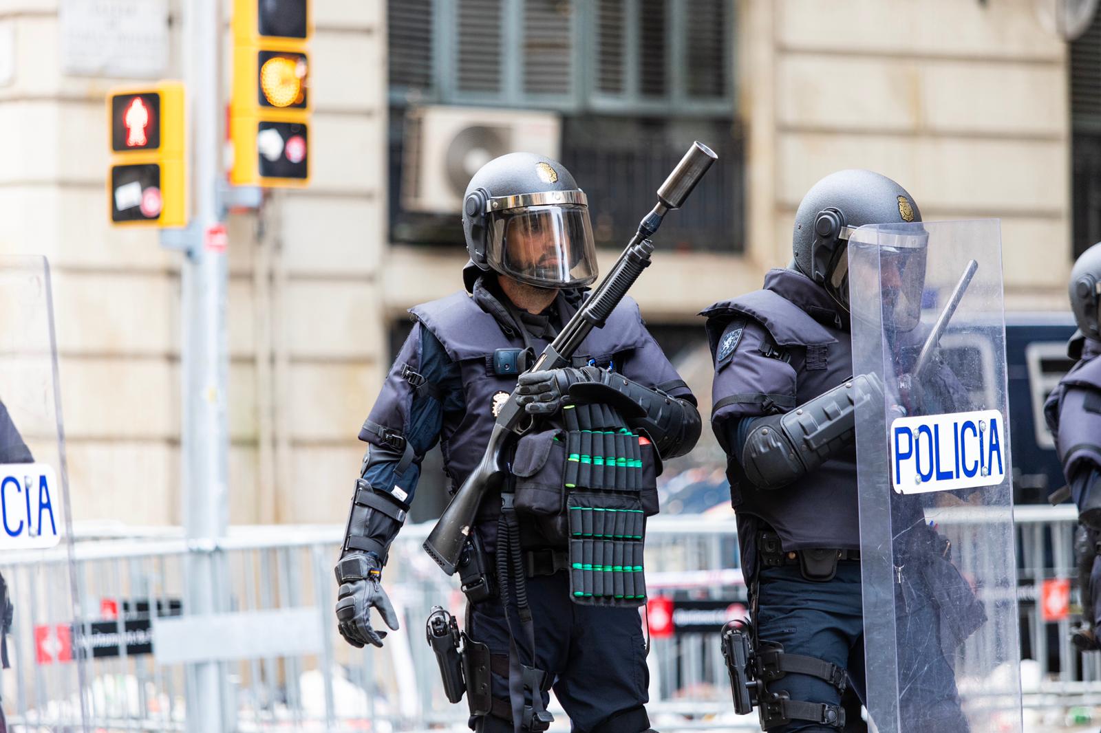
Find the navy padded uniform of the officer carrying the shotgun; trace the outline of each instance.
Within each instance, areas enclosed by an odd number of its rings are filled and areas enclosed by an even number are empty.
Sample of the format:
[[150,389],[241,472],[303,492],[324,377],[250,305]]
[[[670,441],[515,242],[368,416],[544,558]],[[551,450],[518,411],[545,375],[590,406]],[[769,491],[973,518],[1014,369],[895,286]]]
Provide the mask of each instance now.
[[[360,439],[371,444],[372,460],[364,475],[371,488],[404,504],[412,502],[421,458],[437,440],[450,483],[460,485],[484,451],[494,403],[516,385],[515,362],[510,366],[498,351],[542,351],[573,315],[576,300],[571,297],[562,293],[548,311],[533,316],[508,307],[503,295],[483,280],[472,295],[458,293],[413,308],[417,322],[360,433]],[[691,398],[630,298],[604,328],[586,338],[574,363],[611,366],[672,397]],[[379,461],[379,453],[386,460]],[[500,503],[500,495],[487,496],[476,526],[491,556]],[[385,556],[399,528],[392,517],[371,514],[367,537],[378,544],[380,556]],[[648,727],[643,707],[648,699],[648,674],[637,610],[573,603],[569,579],[560,570],[528,578],[527,593],[538,639],[536,666],[553,678],[553,689],[574,730],[633,733]],[[500,601],[473,604],[468,621],[471,638],[487,644],[493,656],[491,693],[508,704],[510,635]],[[471,724],[486,731],[513,730],[497,712]]]

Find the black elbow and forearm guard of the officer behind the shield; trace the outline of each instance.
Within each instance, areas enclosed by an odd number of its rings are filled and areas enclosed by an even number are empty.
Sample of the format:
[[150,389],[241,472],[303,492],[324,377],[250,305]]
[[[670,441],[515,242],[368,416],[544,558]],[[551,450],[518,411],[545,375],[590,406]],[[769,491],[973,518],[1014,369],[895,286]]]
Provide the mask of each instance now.
[[781,489],[848,447],[855,433],[857,404],[883,401],[874,374],[863,374],[789,413],[753,420],[741,446],[741,464],[759,489]]

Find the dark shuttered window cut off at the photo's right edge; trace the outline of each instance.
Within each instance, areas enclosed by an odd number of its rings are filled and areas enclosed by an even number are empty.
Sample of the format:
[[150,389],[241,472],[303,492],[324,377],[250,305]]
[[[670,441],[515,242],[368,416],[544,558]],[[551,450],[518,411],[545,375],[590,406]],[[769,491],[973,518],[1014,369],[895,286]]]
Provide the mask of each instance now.
[[1075,256],[1101,241],[1101,12],[1070,44]]

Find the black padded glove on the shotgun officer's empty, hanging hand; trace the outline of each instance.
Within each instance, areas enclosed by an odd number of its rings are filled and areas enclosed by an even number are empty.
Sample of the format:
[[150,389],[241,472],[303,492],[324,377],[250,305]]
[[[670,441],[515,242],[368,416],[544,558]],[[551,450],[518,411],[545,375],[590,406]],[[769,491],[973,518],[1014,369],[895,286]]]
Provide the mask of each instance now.
[[374,553],[351,553],[340,558],[336,575],[340,583],[337,593],[340,635],[357,648],[364,644],[381,647],[386,632],[371,627],[371,609],[378,610],[386,625],[397,631],[397,613],[382,590],[382,561]]

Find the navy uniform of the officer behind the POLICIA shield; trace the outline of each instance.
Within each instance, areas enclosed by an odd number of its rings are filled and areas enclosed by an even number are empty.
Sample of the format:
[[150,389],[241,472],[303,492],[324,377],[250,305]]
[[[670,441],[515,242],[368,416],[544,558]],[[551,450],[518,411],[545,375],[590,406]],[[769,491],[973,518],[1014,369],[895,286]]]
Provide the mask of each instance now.
[[[754,485],[739,459],[754,419],[791,412],[852,376],[848,313],[802,273],[772,270],[764,289],[718,303],[702,315],[708,317],[716,369],[711,427],[728,456],[731,502],[743,572],[755,599],[759,639],[782,644],[785,654],[836,665],[862,698],[864,633],[855,553],[860,548],[855,447],[840,449],[817,470],[780,489]],[[942,393],[962,393],[950,373],[938,372],[931,382]],[[920,516],[919,506],[906,510]],[[924,522],[917,522],[915,536],[922,537],[916,539],[924,538],[926,530]],[[778,544],[767,567],[762,562],[762,543]],[[797,553],[827,549],[827,555],[841,556],[836,575],[808,579],[795,564]],[[900,647],[928,650],[927,661],[920,664],[900,659],[904,670],[900,689],[906,689],[914,703],[906,705],[909,722],[927,723],[908,730],[964,731],[951,667],[935,652],[940,642],[936,610],[928,603],[916,606],[911,602],[907,611],[900,619],[900,637],[906,639]],[[770,682],[767,689],[786,692],[794,701],[841,705],[840,686],[810,675],[788,672]],[[838,724],[795,720],[770,730],[836,731]],[[864,730],[851,708],[844,730]]]

